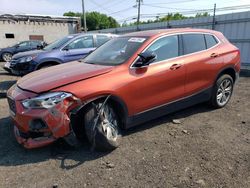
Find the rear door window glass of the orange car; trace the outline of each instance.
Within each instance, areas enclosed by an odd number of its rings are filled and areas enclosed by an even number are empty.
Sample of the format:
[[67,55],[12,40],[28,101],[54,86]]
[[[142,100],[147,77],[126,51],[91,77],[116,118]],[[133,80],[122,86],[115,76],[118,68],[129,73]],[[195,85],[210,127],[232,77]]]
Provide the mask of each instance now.
[[184,54],[199,52],[206,49],[203,34],[183,34]]

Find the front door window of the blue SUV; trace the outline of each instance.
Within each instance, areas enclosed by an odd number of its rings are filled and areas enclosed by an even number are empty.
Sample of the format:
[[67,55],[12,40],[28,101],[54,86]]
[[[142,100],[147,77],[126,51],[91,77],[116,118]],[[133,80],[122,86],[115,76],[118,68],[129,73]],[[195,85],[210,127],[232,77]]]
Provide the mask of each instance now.
[[73,42],[67,45],[69,50],[72,49],[81,49],[81,48],[93,48],[93,37],[86,36],[75,39]]

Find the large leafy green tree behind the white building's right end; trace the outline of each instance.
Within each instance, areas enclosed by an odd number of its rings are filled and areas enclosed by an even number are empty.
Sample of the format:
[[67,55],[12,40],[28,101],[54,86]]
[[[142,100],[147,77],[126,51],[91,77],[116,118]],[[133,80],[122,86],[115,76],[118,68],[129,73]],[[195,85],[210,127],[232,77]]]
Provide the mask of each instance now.
[[[82,13],[70,11],[64,13],[63,15],[71,17],[81,17],[81,22],[83,23]],[[118,22],[113,17],[95,11],[86,13],[86,23],[89,31],[119,27]]]

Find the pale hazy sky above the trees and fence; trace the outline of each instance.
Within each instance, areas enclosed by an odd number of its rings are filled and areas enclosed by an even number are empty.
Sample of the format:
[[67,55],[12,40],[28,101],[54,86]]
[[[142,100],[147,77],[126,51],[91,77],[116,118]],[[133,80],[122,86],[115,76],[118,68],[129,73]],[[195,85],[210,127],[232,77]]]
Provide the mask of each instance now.
[[[218,8],[246,4],[250,5],[249,0],[143,0],[141,13],[145,15],[211,9],[214,3],[217,4]],[[85,0],[87,11],[105,13],[113,16],[120,23],[124,22],[126,19],[131,20],[131,18],[136,17],[137,9],[133,8],[135,4],[136,0]],[[0,14],[43,14],[62,16],[64,12],[68,11],[81,12],[81,0],[0,0]],[[236,11],[227,11],[225,13],[228,12]],[[222,14],[224,12],[219,13]]]

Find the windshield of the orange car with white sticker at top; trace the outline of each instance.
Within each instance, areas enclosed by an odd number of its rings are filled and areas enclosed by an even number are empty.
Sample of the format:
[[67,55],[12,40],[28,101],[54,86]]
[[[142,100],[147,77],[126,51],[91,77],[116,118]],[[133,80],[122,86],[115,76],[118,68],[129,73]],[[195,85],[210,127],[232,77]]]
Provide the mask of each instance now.
[[98,65],[120,65],[127,61],[146,41],[146,37],[118,37],[106,42],[83,62]]

